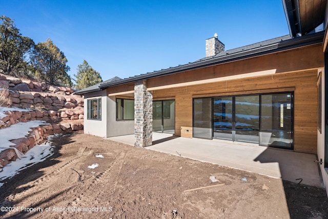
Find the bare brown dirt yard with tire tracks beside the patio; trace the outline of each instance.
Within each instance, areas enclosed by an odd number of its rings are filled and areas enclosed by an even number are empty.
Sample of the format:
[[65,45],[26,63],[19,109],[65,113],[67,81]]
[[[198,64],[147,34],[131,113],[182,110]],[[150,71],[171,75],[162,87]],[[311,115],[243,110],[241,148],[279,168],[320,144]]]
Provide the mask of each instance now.
[[51,157],[0,188],[0,218],[328,217],[321,188],[82,133],[54,143]]

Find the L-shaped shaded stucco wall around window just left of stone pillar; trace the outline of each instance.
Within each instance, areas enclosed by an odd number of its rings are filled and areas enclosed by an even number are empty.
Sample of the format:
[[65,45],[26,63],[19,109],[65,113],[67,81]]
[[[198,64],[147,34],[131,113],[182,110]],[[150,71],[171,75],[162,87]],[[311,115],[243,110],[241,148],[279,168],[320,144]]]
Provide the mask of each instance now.
[[116,98],[115,96],[109,96],[106,98],[107,98],[107,137],[134,134],[134,120],[116,121]]

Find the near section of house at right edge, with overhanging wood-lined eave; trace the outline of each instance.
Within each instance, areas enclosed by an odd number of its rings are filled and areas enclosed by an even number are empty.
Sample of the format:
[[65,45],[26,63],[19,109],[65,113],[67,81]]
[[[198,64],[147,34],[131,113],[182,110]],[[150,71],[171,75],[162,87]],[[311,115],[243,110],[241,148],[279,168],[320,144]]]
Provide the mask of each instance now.
[[311,35],[317,27],[325,32],[322,51],[320,51],[324,66],[319,68],[317,73],[316,154],[322,180],[328,194],[328,88],[325,86],[328,84],[328,5],[326,0],[283,0],[282,3],[292,37],[299,38],[304,35]]

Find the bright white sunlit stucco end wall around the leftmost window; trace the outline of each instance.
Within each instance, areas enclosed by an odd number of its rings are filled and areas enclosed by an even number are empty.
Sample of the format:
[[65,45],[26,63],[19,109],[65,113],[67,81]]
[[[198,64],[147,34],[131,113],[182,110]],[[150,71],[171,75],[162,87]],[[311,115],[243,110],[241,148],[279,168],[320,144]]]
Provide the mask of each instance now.
[[[101,120],[88,120],[88,99],[101,97]],[[100,137],[107,137],[107,96],[106,90],[85,94],[85,117],[84,117],[84,133],[92,134]]]

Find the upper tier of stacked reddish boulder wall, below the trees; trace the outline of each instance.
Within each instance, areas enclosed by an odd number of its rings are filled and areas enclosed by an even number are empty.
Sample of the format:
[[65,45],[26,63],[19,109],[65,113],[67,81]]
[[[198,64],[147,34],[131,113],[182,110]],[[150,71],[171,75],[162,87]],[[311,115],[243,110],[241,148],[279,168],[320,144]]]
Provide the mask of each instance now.
[[12,102],[10,107],[29,109],[26,112],[7,111],[7,116],[0,118],[0,129],[31,120],[45,120],[49,123],[76,121],[75,124],[80,122],[83,127],[84,98],[74,95],[72,88],[4,74],[0,74],[0,88],[8,89],[6,95]]

